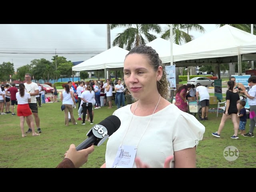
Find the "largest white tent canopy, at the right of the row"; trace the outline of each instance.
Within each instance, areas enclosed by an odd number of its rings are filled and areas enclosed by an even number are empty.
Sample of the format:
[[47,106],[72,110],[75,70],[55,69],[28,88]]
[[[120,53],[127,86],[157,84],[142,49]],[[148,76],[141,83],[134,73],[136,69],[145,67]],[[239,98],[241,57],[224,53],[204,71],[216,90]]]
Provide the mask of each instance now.
[[240,46],[255,40],[255,35],[225,25],[174,49],[173,60],[176,66],[237,62]]

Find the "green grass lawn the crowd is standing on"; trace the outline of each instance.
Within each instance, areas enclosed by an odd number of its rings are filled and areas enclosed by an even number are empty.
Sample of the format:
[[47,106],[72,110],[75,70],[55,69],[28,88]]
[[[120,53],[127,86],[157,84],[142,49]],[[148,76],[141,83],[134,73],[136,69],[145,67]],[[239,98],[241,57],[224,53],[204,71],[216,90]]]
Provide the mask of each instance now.
[[[25,138],[21,137],[18,116],[0,115],[0,168],[54,168],[62,161],[70,144],[78,146],[87,138],[86,133],[92,125],[89,122],[81,125],[81,121],[77,121],[77,125],[65,126],[64,112],[60,110],[60,106],[60,102],[46,103],[38,108],[42,133],[36,137],[32,134],[27,134]],[[216,105],[210,107],[214,108]],[[112,109],[102,107],[94,110],[94,123],[99,123],[112,115],[115,109],[116,106]],[[77,114],[76,108],[75,119],[78,118]],[[234,131],[231,120],[226,122],[221,138],[212,136],[211,133],[218,130],[221,116],[220,114],[217,118],[216,114],[211,113],[208,121],[202,121],[206,131],[197,148],[197,167],[256,168],[256,138],[239,136],[238,140],[232,140],[230,136]],[[27,129],[25,124],[25,130]],[[246,130],[249,130],[249,122],[246,124]],[[235,161],[230,162],[224,158],[223,153],[227,146],[238,148],[239,156]],[[99,168],[104,163],[105,150],[106,142],[95,147],[82,168]]]

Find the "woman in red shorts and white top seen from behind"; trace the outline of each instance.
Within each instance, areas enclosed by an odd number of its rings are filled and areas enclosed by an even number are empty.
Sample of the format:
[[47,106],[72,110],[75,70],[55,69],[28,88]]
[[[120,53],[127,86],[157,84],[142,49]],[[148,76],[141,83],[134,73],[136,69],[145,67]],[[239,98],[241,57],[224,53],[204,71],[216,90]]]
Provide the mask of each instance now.
[[22,137],[26,136],[24,134],[25,117],[27,117],[28,120],[30,121],[32,136],[38,136],[40,134],[35,132],[34,119],[28,104],[31,98],[30,93],[25,92],[25,85],[23,83],[19,84],[19,88],[20,88],[20,92],[16,93],[16,99],[18,101],[17,115],[20,117],[20,129],[21,129]]

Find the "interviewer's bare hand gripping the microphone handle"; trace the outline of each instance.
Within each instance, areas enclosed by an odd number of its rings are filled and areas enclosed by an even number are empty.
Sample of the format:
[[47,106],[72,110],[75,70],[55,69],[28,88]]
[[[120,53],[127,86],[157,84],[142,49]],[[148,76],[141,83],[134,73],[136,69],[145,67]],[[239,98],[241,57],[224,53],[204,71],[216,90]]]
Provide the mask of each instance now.
[[76,150],[76,146],[71,144],[68,151],[64,154],[65,158],[70,159],[76,168],[79,168],[88,161],[89,154],[94,151],[94,145],[83,150]]

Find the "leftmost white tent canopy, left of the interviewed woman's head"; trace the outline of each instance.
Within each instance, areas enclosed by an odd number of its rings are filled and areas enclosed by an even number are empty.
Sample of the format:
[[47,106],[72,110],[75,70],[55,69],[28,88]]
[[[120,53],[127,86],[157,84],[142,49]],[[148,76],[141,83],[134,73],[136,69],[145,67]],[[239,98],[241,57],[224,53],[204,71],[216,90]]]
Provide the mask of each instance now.
[[76,66],[73,66],[72,71],[94,71],[109,68],[123,68],[124,58],[128,52],[128,50],[118,46],[112,47]]

